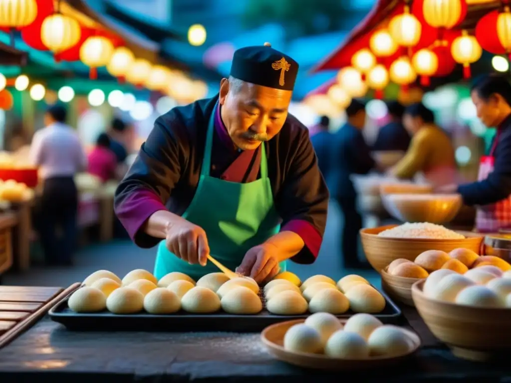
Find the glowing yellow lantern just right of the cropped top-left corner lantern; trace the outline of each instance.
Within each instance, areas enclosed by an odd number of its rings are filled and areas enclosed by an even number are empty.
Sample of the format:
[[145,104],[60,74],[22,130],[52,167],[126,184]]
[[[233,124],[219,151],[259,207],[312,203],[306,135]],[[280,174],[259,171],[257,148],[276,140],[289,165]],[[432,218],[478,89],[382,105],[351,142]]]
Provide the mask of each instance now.
[[41,41],[54,53],[75,46],[82,35],[80,24],[74,18],[56,13],[42,21]]

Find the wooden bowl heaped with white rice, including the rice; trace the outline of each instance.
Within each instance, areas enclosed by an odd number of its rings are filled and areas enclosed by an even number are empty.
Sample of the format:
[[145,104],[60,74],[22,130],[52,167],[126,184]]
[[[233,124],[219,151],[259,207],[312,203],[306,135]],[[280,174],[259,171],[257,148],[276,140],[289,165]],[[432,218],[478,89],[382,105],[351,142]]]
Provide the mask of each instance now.
[[379,273],[395,259],[413,261],[427,250],[448,253],[456,248],[465,248],[480,254],[484,240],[478,233],[453,231],[430,222],[362,229],[360,238],[367,260]]

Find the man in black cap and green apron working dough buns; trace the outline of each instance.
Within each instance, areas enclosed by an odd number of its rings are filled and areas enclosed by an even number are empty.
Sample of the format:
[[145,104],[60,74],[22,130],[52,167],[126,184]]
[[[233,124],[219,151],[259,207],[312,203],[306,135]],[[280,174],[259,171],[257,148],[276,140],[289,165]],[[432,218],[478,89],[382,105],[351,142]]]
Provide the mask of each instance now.
[[298,64],[268,43],[235,52],[219,94],[177,107],[119,185],[115,212],[136,245],[159,244],[154,274],[223,265],[258,282],[310,264],[328,189],[307,128],[288,114]]

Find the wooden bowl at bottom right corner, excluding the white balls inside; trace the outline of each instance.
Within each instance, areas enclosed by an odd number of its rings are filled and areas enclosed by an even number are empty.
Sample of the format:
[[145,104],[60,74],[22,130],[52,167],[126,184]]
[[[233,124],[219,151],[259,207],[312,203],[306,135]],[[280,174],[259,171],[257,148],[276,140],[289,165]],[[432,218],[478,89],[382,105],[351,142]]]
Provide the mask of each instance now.
[[508,358],[511,350],[511,309],[480,308],[428,298],[424,281],[412,286],[412,298],[420,316],[453,354],[472,361]]

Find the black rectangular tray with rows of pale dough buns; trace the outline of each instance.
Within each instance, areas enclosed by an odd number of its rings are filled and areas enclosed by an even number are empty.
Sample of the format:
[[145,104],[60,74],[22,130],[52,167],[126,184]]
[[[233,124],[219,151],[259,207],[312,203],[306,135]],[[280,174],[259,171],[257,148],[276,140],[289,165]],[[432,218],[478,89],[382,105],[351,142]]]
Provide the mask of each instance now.
[[316,312],[339,318],[370,313],[385,323],[401,317],[396,304],[358,275],[337,282],[314,275],[302,283],[286,271],[259,286],[223,273],[195,281],[172,272],[157,280],[141,269],[122,279],[107,270],[92,273],[49,315],[73,330],[250,332]]

